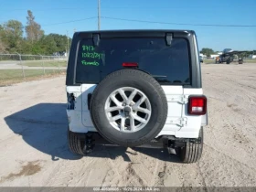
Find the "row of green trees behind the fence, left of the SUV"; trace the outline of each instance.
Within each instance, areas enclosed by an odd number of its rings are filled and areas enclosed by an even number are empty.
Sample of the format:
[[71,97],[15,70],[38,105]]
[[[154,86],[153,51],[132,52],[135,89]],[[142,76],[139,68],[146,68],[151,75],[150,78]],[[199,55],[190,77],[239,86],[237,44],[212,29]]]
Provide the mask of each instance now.
[[[27,11],[26,26],[17,20],[8,20],[0,25],[0,53],[63,55],[67,52],[67,44],[67,36],[53,33],[45,35],[30,10]],[[70,44],[71,38],[69,48]]]

